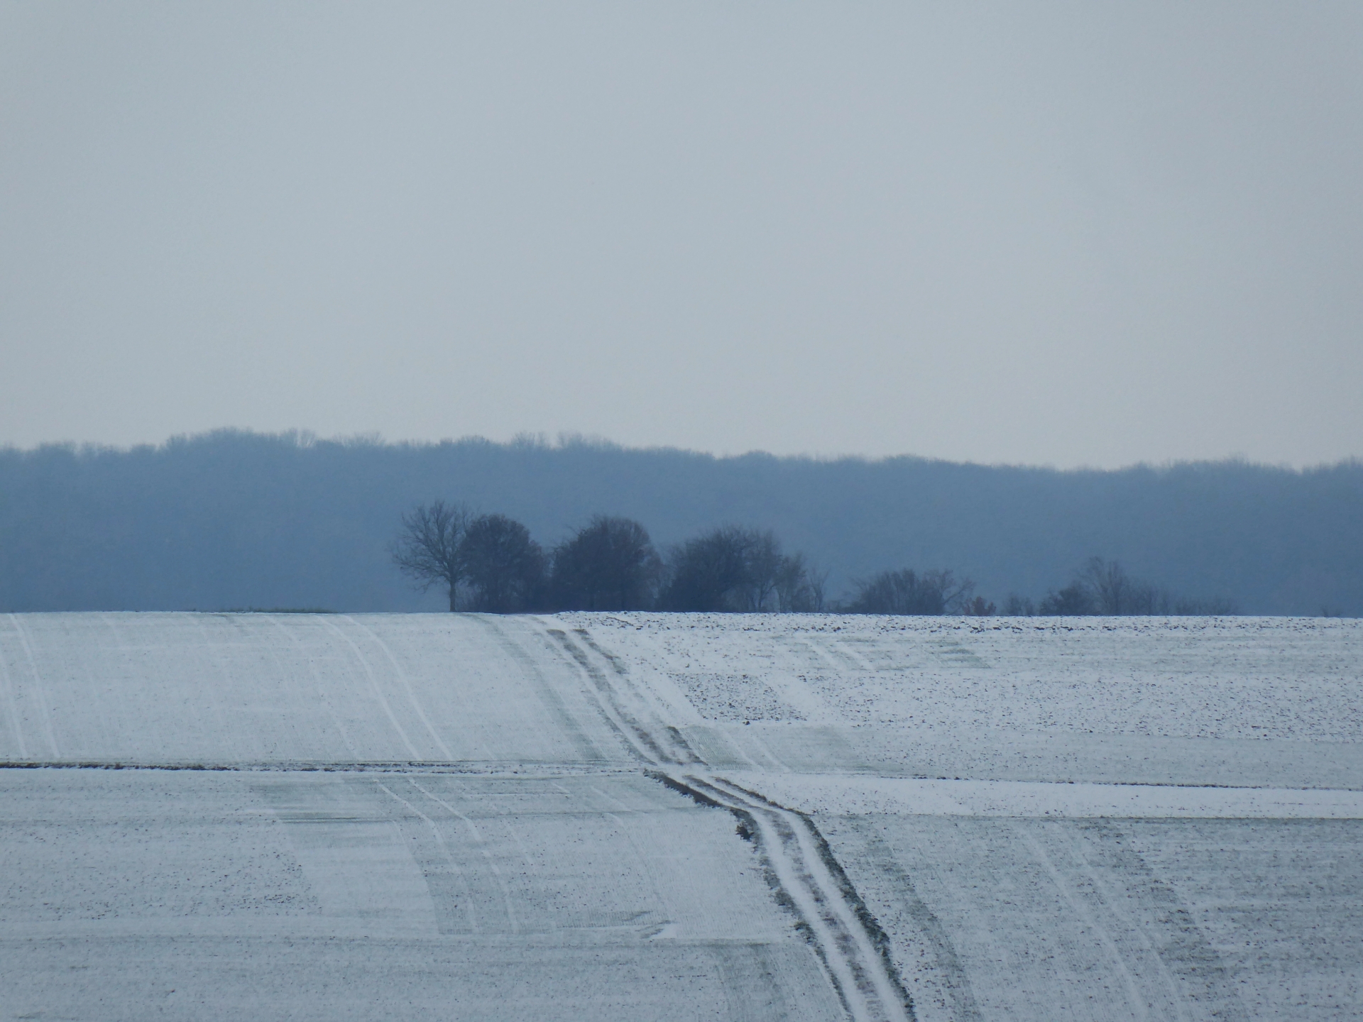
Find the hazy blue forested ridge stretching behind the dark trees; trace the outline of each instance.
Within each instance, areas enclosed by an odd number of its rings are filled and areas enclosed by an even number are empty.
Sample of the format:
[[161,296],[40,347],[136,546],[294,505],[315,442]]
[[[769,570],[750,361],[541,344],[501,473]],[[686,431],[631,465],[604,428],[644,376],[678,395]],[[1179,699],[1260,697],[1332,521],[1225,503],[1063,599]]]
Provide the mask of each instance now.
[[921,593],[924,570],[953,568],[975,580],[970,601],[1002,610],[1020,593],[1036,609],[1097,553],[1246,613],[1363,615],[1359,461],[1059,471],[239,431],[0,447],[0,613],[444,609],[444,589],[418,593],[388,556],[402,514],[433,496],[523,523],[547,557],[598,511],[643,522],[664,559],[721,522],[758,525],[830,570],[829,606],[886,570],[915,570],[902,597]]

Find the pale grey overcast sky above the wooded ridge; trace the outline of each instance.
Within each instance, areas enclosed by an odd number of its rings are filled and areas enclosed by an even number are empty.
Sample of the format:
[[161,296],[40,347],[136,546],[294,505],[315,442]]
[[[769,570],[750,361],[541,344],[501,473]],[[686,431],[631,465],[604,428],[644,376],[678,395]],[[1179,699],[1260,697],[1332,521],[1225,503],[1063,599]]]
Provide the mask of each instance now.
[[0,5],[0,444],[1363,455],[1363,4]]

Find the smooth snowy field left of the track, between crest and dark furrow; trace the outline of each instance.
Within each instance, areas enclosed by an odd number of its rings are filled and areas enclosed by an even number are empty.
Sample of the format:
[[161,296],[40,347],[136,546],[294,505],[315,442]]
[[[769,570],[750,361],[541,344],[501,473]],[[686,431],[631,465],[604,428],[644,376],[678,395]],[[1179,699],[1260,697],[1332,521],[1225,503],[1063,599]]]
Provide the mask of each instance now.
[[630,762],[571,664],[436,615],[10,615],[0,756],[41,762]]

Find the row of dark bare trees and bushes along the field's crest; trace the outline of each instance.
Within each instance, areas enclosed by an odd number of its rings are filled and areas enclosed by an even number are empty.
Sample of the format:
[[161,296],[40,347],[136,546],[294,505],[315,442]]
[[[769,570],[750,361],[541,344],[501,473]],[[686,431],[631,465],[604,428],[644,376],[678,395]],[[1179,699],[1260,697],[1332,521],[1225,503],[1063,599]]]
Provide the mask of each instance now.
[[[639,522],[596,515],[547,551],[521,522],[436,500],[402,516],[391,556],[418,589],[443,589],[450,610],[998,613],[970,579],[947,570],[882,571],[853,579],[853,593],[830,601],[827,571],[803,553],[785,553],[771,530],[736,525],[711,529],[664,556]],[[1235,613],[1235,606],[1175,598],[1129,576],[1116,561],[1093,557],[1040,604],[1010,595],[1002,613],[1202,615]]]

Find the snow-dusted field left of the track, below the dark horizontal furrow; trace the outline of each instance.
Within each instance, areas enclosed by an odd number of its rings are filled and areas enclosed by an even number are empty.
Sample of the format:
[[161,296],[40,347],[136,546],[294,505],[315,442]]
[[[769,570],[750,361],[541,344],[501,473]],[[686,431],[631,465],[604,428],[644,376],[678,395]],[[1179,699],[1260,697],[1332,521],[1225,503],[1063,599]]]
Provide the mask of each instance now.
[[3,1017],[838,1012],[733,820],[638,773],[0,781]]

